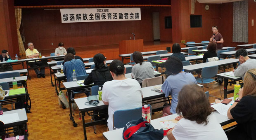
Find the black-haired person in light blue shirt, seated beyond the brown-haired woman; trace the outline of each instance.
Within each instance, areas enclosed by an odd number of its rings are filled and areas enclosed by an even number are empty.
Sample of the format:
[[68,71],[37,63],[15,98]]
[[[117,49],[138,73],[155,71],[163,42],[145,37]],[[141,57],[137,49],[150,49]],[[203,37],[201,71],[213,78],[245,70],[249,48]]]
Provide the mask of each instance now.
[[162,91],[165,97],[171,95],[171,105],[164,107],[163,117],[175,114],[178,105],[178,95],[180,89],[187,84],[197,84],[197,80],[191,73],[183,72],[182,62],[178,57],[170,56],[165,63],[166,75],[169,75],[164,84]]

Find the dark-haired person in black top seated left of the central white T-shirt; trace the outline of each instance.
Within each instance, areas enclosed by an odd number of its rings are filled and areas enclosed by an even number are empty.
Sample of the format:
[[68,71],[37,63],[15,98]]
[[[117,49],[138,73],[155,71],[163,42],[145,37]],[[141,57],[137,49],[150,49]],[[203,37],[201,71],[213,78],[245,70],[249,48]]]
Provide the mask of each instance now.
[[113,80],[109,69],[106,67],[106,59],[103,54],[95,54],[93,56],[93,62],[95,63],[95,69],[85,79],[84,84],[92,84],[102,87],[107,81]]

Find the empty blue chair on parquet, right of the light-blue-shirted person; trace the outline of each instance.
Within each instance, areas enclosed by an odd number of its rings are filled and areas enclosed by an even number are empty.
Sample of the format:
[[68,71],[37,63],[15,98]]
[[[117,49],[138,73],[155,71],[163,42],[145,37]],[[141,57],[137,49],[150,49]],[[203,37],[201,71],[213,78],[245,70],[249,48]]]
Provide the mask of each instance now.
[[[204,84],[208,84],[208,86],[209,86],[209,83],[215,81],[215,79],[211,79],[211,78],[215,77],[218,74],[218,68],[219,68],[218,65],[213,65],[210,67],[202,68],[201,78],[197,79],[197,83],[203,84],[203,90],[204,90]],[[218,84],[218,85],[220,88],[220,84]],[[221,90],[220,90],[220,96],[222,98]],[[215,96],[212,96],[212,97],[215,97]],[[215,97],[215,98],[217,98],[217,97]],[[221,98],[218,98],[218,99],[221,100]]]

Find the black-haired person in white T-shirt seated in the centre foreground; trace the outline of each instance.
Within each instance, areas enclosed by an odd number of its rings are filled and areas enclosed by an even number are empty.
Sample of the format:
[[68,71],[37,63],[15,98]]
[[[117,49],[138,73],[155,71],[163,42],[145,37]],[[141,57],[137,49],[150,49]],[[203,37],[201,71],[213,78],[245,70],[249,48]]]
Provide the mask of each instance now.
[[109,105],[107,126],[113,130],[113,114],[116,110],[142,107],[142,91],[135,79],[125,77],[126,68],[120,60],[114,60],[109,66],[114,80],[105,82],[102,89],[102,101]]

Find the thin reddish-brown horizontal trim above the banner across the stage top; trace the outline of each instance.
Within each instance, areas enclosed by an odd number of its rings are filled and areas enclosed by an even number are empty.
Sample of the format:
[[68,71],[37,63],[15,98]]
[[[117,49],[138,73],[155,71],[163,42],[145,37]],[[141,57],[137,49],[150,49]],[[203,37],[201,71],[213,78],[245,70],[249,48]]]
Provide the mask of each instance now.
[[171,7],[171,5],[45,5],[14,6],[14,8],[63,8],[63,7]]

